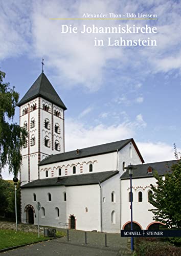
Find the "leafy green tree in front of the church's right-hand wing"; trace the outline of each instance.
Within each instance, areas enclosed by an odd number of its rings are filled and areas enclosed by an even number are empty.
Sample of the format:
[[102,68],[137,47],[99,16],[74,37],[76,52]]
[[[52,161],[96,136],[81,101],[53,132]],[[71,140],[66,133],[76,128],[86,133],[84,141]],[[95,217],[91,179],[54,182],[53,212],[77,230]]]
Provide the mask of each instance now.
[[151,184],[153,196],[150,203],[154,206],[155,221],[166,224],[168,228],[181,228],[181,161],[171,166],[171,173],[165,174],[165,179],[154,172],[157,188]]

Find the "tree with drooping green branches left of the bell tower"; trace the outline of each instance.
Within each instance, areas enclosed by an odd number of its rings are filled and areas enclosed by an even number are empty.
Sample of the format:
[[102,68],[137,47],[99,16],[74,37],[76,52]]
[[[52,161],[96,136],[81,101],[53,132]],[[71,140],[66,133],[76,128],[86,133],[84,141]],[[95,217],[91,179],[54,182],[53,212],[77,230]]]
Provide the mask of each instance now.
[[0,174],[8,164],[9,173],[17,176],[20,170],[20,150],[24,146],[27,132],[17,123],[13,123],[15,107],[19,94],[11,89],[9,83],[3,83],[5,73],[0,71]]

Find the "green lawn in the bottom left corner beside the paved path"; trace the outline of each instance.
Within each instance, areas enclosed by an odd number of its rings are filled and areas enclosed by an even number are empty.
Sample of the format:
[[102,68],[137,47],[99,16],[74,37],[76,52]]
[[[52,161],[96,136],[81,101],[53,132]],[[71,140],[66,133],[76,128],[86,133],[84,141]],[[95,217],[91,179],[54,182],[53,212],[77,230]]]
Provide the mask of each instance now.
[[[57,237],[65,236],[64,232],[57,231]],[[28,244],[38,241],[47,240],[44,236],[40,235],[38,238],[38,233],[34,232],[22,232],[9,229],[0,230],[0,250],[12,246],[17,246],[21,244]]]

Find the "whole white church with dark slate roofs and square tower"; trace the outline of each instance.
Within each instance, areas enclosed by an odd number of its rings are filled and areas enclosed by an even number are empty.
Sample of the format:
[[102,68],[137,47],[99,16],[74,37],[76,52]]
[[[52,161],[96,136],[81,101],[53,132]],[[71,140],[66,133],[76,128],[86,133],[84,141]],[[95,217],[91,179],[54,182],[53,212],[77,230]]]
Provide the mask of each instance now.
[[133,139],[64,152],[66,106],[42,72],[18,102],[20,126],[28,131],[21,151],[21,221],[78,230],[120,232],[130,229],[132,176],[133,229],[158,229],[153,220],[150,184],[173,161],[144,164]]

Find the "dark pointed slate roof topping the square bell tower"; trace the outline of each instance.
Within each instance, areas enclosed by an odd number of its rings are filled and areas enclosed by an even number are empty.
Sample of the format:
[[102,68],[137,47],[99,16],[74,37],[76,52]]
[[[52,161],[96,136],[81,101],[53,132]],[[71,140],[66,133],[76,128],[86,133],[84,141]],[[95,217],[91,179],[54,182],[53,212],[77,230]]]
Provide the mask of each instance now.
[[60,108],[63,110],[66,110],[66,106],[63,104],[51,82],[43,72],[39,75],[39,77],[30,87],[25,96],[22,97],[22,99],[17,103],[17,105],[21,106],[22,104],[25,104],[38,96],[42,97],[43,99],[47,99],[53,104],[60,106]]

